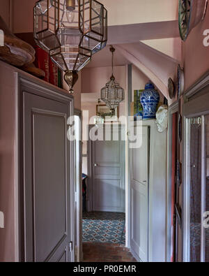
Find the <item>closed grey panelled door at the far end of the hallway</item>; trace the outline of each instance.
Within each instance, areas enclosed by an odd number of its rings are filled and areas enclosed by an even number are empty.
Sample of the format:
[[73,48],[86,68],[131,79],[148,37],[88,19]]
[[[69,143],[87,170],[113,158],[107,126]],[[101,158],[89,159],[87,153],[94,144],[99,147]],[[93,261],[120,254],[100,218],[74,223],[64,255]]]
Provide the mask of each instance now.
[[[113,130],[111,135],[113,135]],[[107,131],[106,131],[107,133]],[[125,212],[125,141],[92,142],[93,211]]]

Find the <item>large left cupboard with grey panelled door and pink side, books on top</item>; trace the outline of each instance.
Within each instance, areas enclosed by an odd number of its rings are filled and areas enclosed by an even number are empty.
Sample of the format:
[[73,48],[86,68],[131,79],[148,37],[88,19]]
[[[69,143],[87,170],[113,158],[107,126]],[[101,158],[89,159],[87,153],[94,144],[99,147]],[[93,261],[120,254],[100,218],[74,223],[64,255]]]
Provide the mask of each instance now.
[[0,261],[74,261],[73,97],[1,61],[0,72]]

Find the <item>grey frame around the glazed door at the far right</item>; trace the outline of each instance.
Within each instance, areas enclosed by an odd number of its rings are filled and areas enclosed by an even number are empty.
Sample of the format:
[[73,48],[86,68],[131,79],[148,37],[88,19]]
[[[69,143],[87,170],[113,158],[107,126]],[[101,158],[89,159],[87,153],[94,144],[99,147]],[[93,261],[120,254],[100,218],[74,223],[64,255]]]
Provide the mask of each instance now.
[[[189,119],[191,117],[201,117],[209,114],[209,71],[203,75],[192,87],[185,92],[185,101],[183,105],[183,239],[182,252],[183,261],[189,262],[190,238],[189,238],[189,216],[190,216],[190,190],[189,190]],[[203,127],[202,127],[203,131]],[[202,132],[203,133],[203,132]],[[204,143],[204,137],[202,137]],[[203,159],[204,152],[202,152]],[[203,161],[203,160],[202,160]],[[204,168],[201,168],[202,174]],[[203,182],[203,179],[202,179]],[[203,183],[202,183],[203,184]],[[202,185],[201,184],[201,185]],[[203,187],[203,185],[202,185]],[[201,193],[203,196],[203,191]],[[203,211],[203,205],[201,206]],[[202,218],[203,219],[203,218]],[[202,240],[201,240],[202,242]],[[203,252],[201,254],[203,261]]]

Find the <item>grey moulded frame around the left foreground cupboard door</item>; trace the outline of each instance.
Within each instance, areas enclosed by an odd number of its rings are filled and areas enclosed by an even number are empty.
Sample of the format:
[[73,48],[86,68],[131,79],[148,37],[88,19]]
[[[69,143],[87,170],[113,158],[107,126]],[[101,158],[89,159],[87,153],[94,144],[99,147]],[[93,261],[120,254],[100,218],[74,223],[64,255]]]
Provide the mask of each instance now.
[[[15,248],[16,260],[24,261],[24,187],[23,187],[23,92],[29,92],[37,96],[68,104],[69,116],[74,113],[74,98],[63,89],[50,85],[49,83],[34,78],[23,72],[15,74]],[[66,126],[67,129],[67,126]],[[67,136],[67,133],[66,133]],[[74,146],[70,143],[70,164],[74,168]],[[70,240],[72,240],[71,261],[75,261],[75,179],[74,173],[70,173]],[[70,246],[70,245],[69,245]]]

